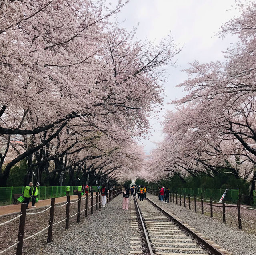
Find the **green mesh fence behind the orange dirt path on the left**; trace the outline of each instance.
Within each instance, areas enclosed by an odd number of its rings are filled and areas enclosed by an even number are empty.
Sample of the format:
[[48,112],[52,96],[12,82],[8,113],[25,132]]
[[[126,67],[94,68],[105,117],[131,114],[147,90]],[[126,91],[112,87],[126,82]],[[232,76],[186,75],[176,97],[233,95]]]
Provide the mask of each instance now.
[[[70,195],[74,194],[74,190],[77,190],[77,186],[70,186]],[[97,191],[97,187],[93,186],[93,190]],[[0,202],[5,204],[13,203],[13,194],[22,194],[24,186],[20,187],[0,187]],[[65,196],[66,186],[39,186],[38,199],[58,198]]]

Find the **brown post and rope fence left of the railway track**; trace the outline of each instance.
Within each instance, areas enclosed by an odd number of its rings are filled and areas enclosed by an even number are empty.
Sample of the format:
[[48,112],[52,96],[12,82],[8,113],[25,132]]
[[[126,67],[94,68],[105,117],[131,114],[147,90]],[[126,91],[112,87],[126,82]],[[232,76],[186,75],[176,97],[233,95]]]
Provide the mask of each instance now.
[[[122,190],[111,190],[108,191],[108,199],[106,201],[106,203],[110,202],[110,200],[112,200],[113,198],[115,198],[116,196],[118,196],[120,193],[122,193]],[[3,223],[0,223],[0,226],[2,225],[6,225],[12,221],[14,221],[15,219],[20,219],[20,223],[19,223],[19,230],[18,230],[18,242],[14,243],[13,245],[7,247],[6,249],[4,249],[3,251],[0,251],[0,254],[3,254],[5,251],[8,251],[9,249],[15,247],[17,245],[17,249],[16,249],[16,255],[22,255],[22,249],[23,249],[23,242],[38,235],[39,233],[42,233],[43,231],[48,229],[48,237],[47,237],[47,243],[50,243],[52,241],[52,229],[53,226],[66,221],[65,224],[65,229],[69,229],[69,219],[76,216],[77,215],[77,220],[76,223],[80,222],[80,215],[82,212],[84,213],[84,217],[88,216],[88,209],[91,209],[91,214],[93,214],[93,207],[96,206],[95,211],[98,210],[98,205],[99,208],[101,208],[101,201],[100,201],[100,193],[98,194],[98,192],[96,192],[96,195],[94,196],[90,196],[88,197],[88,193],[85,194],[86,197],[85,198],[81,198],[81,196],[78,195],[79,199],[73,202],[70,202],[70,196],[67,197],[67,202],[62,204],[62,205],[55,205],[55,198],[51,199],[51,205],[40,211],[40,212],[35,212],[35,213],[26,213],[26,204],[22,203],[21,204],[21,211],[20,211],[20,215],[14,217],[13,219],[10,219],[8,221],[5,221]],[[91,199],[91,205],[88,206],[88,198]],[[96,201],[93,201],[96,198]],[[85,208],[83,210],[81,210],[81,202],[85,200]],[[78,202],[78,207],[77,207],[77,212],[71,216],[69,216],[70,213],[70,204],[74,204]],[[95,204],[93,202],[96,202]],[[64,219],[61,219],[60,221],[53,223],[53,219],[54,219],[54,208],[55,207],[63,207],[66,206],[66,216],[64,217]],[[37,233],[34,233],[33,235],[30,235],[26,238],[24,238],[24,231],[25,231],[25,223],[26,223],[26,215],[36,215],[36,214],[40,214],[43,212],[46,212],[47,210],[50,209],[50,215],[49,215],[49,225],[47,227],[45,227],[44,229],[38,231]],[[74,210],[74,209],[73,209]]]

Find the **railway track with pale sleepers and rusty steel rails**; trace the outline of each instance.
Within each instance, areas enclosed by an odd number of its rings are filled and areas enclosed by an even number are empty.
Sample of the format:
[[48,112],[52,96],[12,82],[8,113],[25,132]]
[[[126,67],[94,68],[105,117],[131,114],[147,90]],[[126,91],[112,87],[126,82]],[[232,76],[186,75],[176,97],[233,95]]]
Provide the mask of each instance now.
[[[136,247],[131,240],[130,254],[145,255],[225,255],[218,245],[202,238],[195,229],[174,218],[150,199],[140,202],[134,200],[131,226],[141,226],[144,241],[139,240]],[[135,218],[136,212],[136,218]],[[135,219],[138,219],[138,224]],[[137,242],[139,237],[137,238]]]

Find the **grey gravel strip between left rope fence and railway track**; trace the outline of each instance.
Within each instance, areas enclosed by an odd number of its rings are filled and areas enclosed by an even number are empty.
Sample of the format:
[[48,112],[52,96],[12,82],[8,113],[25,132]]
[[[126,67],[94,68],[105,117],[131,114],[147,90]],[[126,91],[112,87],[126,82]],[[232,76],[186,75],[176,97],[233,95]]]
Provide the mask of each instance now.
[[[68,231],[54,233],[52,243],[36,255],[127,255],[130,252],[130,209],[122,210],[122,195],[114,198]],[[31,254],[31,253],[30,253]]]

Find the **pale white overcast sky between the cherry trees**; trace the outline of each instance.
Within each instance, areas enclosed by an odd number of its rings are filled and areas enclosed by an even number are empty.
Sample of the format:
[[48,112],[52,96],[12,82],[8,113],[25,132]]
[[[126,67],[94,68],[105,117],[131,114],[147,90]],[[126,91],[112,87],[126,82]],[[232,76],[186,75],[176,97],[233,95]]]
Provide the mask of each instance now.
[[[164,85],[167,97],[164,100],[164,110],[160,113],[160,121],[163,120],[161,116],[166,109],[174,109],[173,105],[167,103],[184,95],[182,89],[175,86],[186,80],[186,75],[181,70],[188,68],[188,63],[194,60],[200,63],[224,61],[222,51],[231,42],[235,42],[236,38],[228,36],[220,39],[215,34],[222,23],[239,15],[232,5],[235,5],[235,0],[130,0],[118,14],[118,20],[124,21],[122,26],[127,30],[139,23],[138,39],[147,38],[157,43],[171,32],[174,42],[180,47],[184,45],[176,56],[178,67],[168,68],[168,83]],[[150,121],[152,136],[150,140],[142,140],[147,154],[156,147],[154,142],[162,139],[160,121]]]

